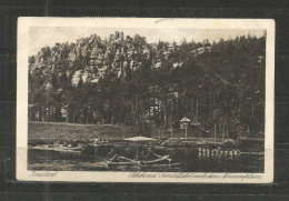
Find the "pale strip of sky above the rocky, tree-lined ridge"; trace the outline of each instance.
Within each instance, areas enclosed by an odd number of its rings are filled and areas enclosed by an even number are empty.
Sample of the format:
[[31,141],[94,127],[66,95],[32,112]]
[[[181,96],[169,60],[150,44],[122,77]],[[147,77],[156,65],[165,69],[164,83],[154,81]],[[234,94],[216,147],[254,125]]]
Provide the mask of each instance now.
[[114,31],[123,32],[124,36],[133,37],[140,34],[147,38],[147,42],[158,42],[159,40],[179,43],[183,38],[189,42],[202,42],[205,39],[217,42],[221,38],[227,40],[235,39],[237,36],[256,36],[262,37],[265,30],[261,29],[131,29],[131,28],[86,28],[86,27],[32,27],[29,30],[29,56],[37,54],[38,51],[46,47],[53,47],[57,42],[76,42],[79,38],[87,38],[91,34],[98,34],[101,39],[109,38]]

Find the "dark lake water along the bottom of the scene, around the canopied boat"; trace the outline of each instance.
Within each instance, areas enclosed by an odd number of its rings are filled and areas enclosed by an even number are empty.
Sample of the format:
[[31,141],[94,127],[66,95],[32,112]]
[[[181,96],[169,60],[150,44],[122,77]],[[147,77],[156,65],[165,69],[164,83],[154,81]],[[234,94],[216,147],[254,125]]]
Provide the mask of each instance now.
[[[158,154],[169,154],[171,163],[141,167],[107,167],[107,151],[76,154],[53,150],[29,149],[29,170],[50,171],[152,171],[152,172],[263,172],[262,153],[241,153],[238,157],[203,157],[198,149],[162,149]],[[117,151],[118,153],[121,150]],[[113,155],[113,154],[112,154]],[[121,155],[121,153],[120,153]]]

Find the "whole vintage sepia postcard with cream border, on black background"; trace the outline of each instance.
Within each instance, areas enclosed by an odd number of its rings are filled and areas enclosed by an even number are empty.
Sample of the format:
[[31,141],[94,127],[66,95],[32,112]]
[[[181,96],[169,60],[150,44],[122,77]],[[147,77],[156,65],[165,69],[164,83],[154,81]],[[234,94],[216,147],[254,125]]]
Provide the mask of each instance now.
[[17,57],[17,180],[273,181],[273,20],[19,18]]

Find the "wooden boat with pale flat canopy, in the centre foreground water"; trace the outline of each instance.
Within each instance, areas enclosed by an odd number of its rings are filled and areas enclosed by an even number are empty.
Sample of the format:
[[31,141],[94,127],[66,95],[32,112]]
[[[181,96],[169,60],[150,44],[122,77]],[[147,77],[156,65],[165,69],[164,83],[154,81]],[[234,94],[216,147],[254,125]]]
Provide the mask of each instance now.
[[[157,153],[151,153],[150,157],[139,155],[139,148],[142,147],[142,142],[144,141],[153,141],[156,139],[147,138],[147,137],[134,137],[124,139],[124,141],[137,142],[137,157],[136,159],[129,159],[127,157],[118,157],[114,154],[109,161],[108,165],[144,165],[144,164],[153,164],[153,163],[162,163],[162,162],[171,162],[169,155],[159,155]],[[153,159],[152,159],[153,157]]]

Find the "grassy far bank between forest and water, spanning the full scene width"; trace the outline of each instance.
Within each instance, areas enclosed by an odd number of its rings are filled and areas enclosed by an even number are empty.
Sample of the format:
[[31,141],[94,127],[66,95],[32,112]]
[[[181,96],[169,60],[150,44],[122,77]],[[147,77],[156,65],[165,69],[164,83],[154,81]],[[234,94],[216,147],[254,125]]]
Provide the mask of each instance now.
[[[136,127],[120,124],[73,124],[63,122],[29,122],[28,139],[29,144],[51,144],[57,140],[66,141],[68,144],[77,141],[78,143],[88,143],[93,139],[101,138],[106,141],[120,142],[124,138],[138,135]],[[185,134],[180,130],[173,132],[176,139],[170,139],[170,133],[166,129],[155,128],[152,138],[158,139],[155,144],[161,144],[168,148],[177,147],[208,147],[215,144],[213,138],[197,138],[188,134],[188,140],[185,140]],[[166,141],[165,141],[166,140]],[[217,139],[217,143],[222,147],[235,147],[235,141],[223,141]],[[263,140],[242,140],[238,144],[239,149],[245,150],[263,150]]]

